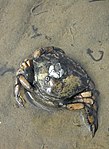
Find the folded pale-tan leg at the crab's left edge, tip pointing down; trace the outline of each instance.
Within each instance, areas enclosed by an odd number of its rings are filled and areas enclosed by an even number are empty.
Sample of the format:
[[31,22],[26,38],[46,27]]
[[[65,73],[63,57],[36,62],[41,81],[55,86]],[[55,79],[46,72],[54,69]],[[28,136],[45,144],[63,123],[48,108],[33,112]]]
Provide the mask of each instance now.
[[20,106],[24,106],[24,103],[26,102],[25,99],[23,98],[23,96],[21,95],[21,87],[24,87],[24,89],[26,89],[28,91],[33,91],[32,86],[26,80],[26,78],[24,76],[24,70],[26,68],[31,67],[30,62],[31,62],[30,60],[27,60],[27,59],[24,60],[24,62],[22,62],[22,64],[20,65],[20,68],[18,69],[18,71],[16,73],[14,92],[15,92],[16,101]]

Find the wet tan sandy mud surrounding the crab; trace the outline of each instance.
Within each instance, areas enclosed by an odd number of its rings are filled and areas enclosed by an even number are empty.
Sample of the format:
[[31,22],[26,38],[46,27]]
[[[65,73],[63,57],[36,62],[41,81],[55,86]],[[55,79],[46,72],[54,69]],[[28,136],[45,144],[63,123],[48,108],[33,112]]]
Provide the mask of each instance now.
[[[93,139],[79,111],[16,106],[15,70],[44,46],[60,47],[79,61],[100,91]],[[0,149],[84,148],[109,148],[109,0],[0,0]]]

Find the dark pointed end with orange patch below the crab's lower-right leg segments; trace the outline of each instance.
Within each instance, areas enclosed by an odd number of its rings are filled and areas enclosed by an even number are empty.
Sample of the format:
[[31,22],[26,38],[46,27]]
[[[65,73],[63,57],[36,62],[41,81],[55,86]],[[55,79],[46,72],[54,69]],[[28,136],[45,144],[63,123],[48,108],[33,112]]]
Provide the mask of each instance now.
[[98,129],[97,103],[95,102],[92,106],[87,104],[85,106],[85,113],[89,129],[92,132],[92,137],[94,137]]

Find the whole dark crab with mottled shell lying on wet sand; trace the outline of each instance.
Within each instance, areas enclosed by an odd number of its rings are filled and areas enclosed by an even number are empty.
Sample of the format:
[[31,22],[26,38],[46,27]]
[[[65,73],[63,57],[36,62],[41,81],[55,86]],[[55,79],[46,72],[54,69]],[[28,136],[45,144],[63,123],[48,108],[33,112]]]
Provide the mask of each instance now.
[[24,106],[26,102],[22,90],[33,104],[41,108],[84,111],[94,137],[98,129],[98,91],[81,65],[62,49],[37,49],[20,64],[14,89],[19,106]]

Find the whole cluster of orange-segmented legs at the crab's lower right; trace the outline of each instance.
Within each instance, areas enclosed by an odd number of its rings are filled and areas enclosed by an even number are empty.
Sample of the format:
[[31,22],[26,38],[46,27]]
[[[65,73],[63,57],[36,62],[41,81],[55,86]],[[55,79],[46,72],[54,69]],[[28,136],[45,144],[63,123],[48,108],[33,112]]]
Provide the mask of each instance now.
[[98,105],[92,92],[86,91],[79,94],[72,103],[67,104],[66,107],[68,110],[84,109],[85,120],[92,132],[92,137],[94,137],[98,128]]

